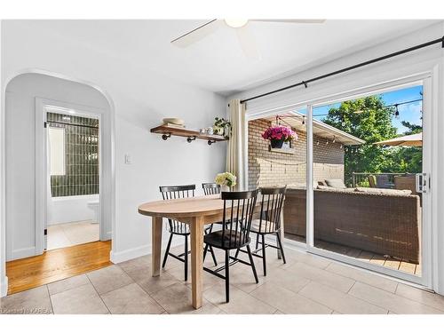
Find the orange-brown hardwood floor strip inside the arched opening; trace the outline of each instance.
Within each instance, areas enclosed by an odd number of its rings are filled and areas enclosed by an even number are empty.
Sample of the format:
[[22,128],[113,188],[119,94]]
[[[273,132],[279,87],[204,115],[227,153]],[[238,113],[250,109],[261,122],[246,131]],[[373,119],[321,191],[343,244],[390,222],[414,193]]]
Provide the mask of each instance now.
[[8,295],[110,266],[110,250],[111,241],[89,242],[7,262]]

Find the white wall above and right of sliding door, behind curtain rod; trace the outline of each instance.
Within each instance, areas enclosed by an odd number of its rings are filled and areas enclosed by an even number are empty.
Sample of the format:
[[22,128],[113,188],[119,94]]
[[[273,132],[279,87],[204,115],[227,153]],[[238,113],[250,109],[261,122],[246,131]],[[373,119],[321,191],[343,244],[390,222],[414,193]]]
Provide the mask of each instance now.
[[[377,58],[391,52],[422,44],[440,38],[444,35],[444,24],[439,23],[429,28],[424,28],[415,33],[392,40],[389,43],[380,44],[362,52],[356,52],[349,56],[331,61],[322,66],[313,67],[296,75],[291,75],[281,80],[260,85],[249,91],[242,91],[229,99],[247,99],[252,96],[273,91],[293,83],[299,83],[318,75],[324,75],[337,69],[353,66],[362,61]],[[432,161],[430,171],[432,175],[432,217],[431,232],[432,244],[424,243],[423,246],[431,246],[432,258],[432,289],[444,294],[444,178],[440,177],[444,169],[444,49],[441,44],[429,46],[421,51],[408,53],[397,58],[388,59],[368,67],[361,67],[351,72],[335,75],[327,79],[309,83],[308,88],[298,87],[289,91],[283,91],[263,99],[247,102],[247,115],[251,118],[260,117],[266,113],[279,113],[294,109],[297,104],[313,102],[316,99],[331,98],[336,94],[365,88],[377,83],[385,83],[395,78],[405,77],[421,73],[432,74]],[[429,91],[430,92],[430,91]],[[281,108],[279,108],[281,107]],[[429,132],[430,133],[430,132]]]

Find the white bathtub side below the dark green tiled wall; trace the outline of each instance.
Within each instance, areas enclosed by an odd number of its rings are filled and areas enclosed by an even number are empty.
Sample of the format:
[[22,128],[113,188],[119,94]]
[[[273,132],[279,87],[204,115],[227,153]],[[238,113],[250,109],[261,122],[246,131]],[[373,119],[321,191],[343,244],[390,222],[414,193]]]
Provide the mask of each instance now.
[[48,226],[94,219],[94,211],[88,207],[92,201],[99,201],[99,194],[53,197]]

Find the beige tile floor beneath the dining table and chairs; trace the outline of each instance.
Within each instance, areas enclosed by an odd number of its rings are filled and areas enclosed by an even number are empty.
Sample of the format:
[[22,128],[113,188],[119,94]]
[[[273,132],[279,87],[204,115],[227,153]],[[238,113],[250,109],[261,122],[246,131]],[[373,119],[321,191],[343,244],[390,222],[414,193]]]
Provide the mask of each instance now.
[[[176,252],[182,250],[175,249]],[[231,267],[231,301],[224,281],[203,275],[203,306],[194,310],[183,264],[169,258],[151,277],[149,256],[29,289],[0,299],[0,313],[441,313],[444,297],[326,258],[286,250],[287,264],[268,252],[268,274],[255,258]],[[222,252],[217,252],[220,262]],[[210,256],[205,266],[211,266]]]

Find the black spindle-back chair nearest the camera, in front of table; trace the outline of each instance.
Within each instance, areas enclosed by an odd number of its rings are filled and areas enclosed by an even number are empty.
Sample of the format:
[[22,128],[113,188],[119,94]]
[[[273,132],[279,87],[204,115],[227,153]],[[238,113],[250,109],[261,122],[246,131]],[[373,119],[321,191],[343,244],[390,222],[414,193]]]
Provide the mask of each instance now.
[[[203,236],[205,252],[210,247],[225,250],[225,266],[218,267],[216,270],[211,270],[207,267],[203,267],[203,269],[225,280],[227,303],[230,301],[230,266],[237,262],[251,266],[256,283],[258,283],[258,274],[256,273],[256,267],[254,266],[250,250],[250,227],[257,197],[258,190],[222,192],[221,198],[224,201],[222,230],[214,231]],[[250,263],[230,256],[230,250],[240,250],[244,247],[247,248]],[[230,259],[233,260],[231,263]],[[225,275],[218,273],[222,270],[225,270]]]

